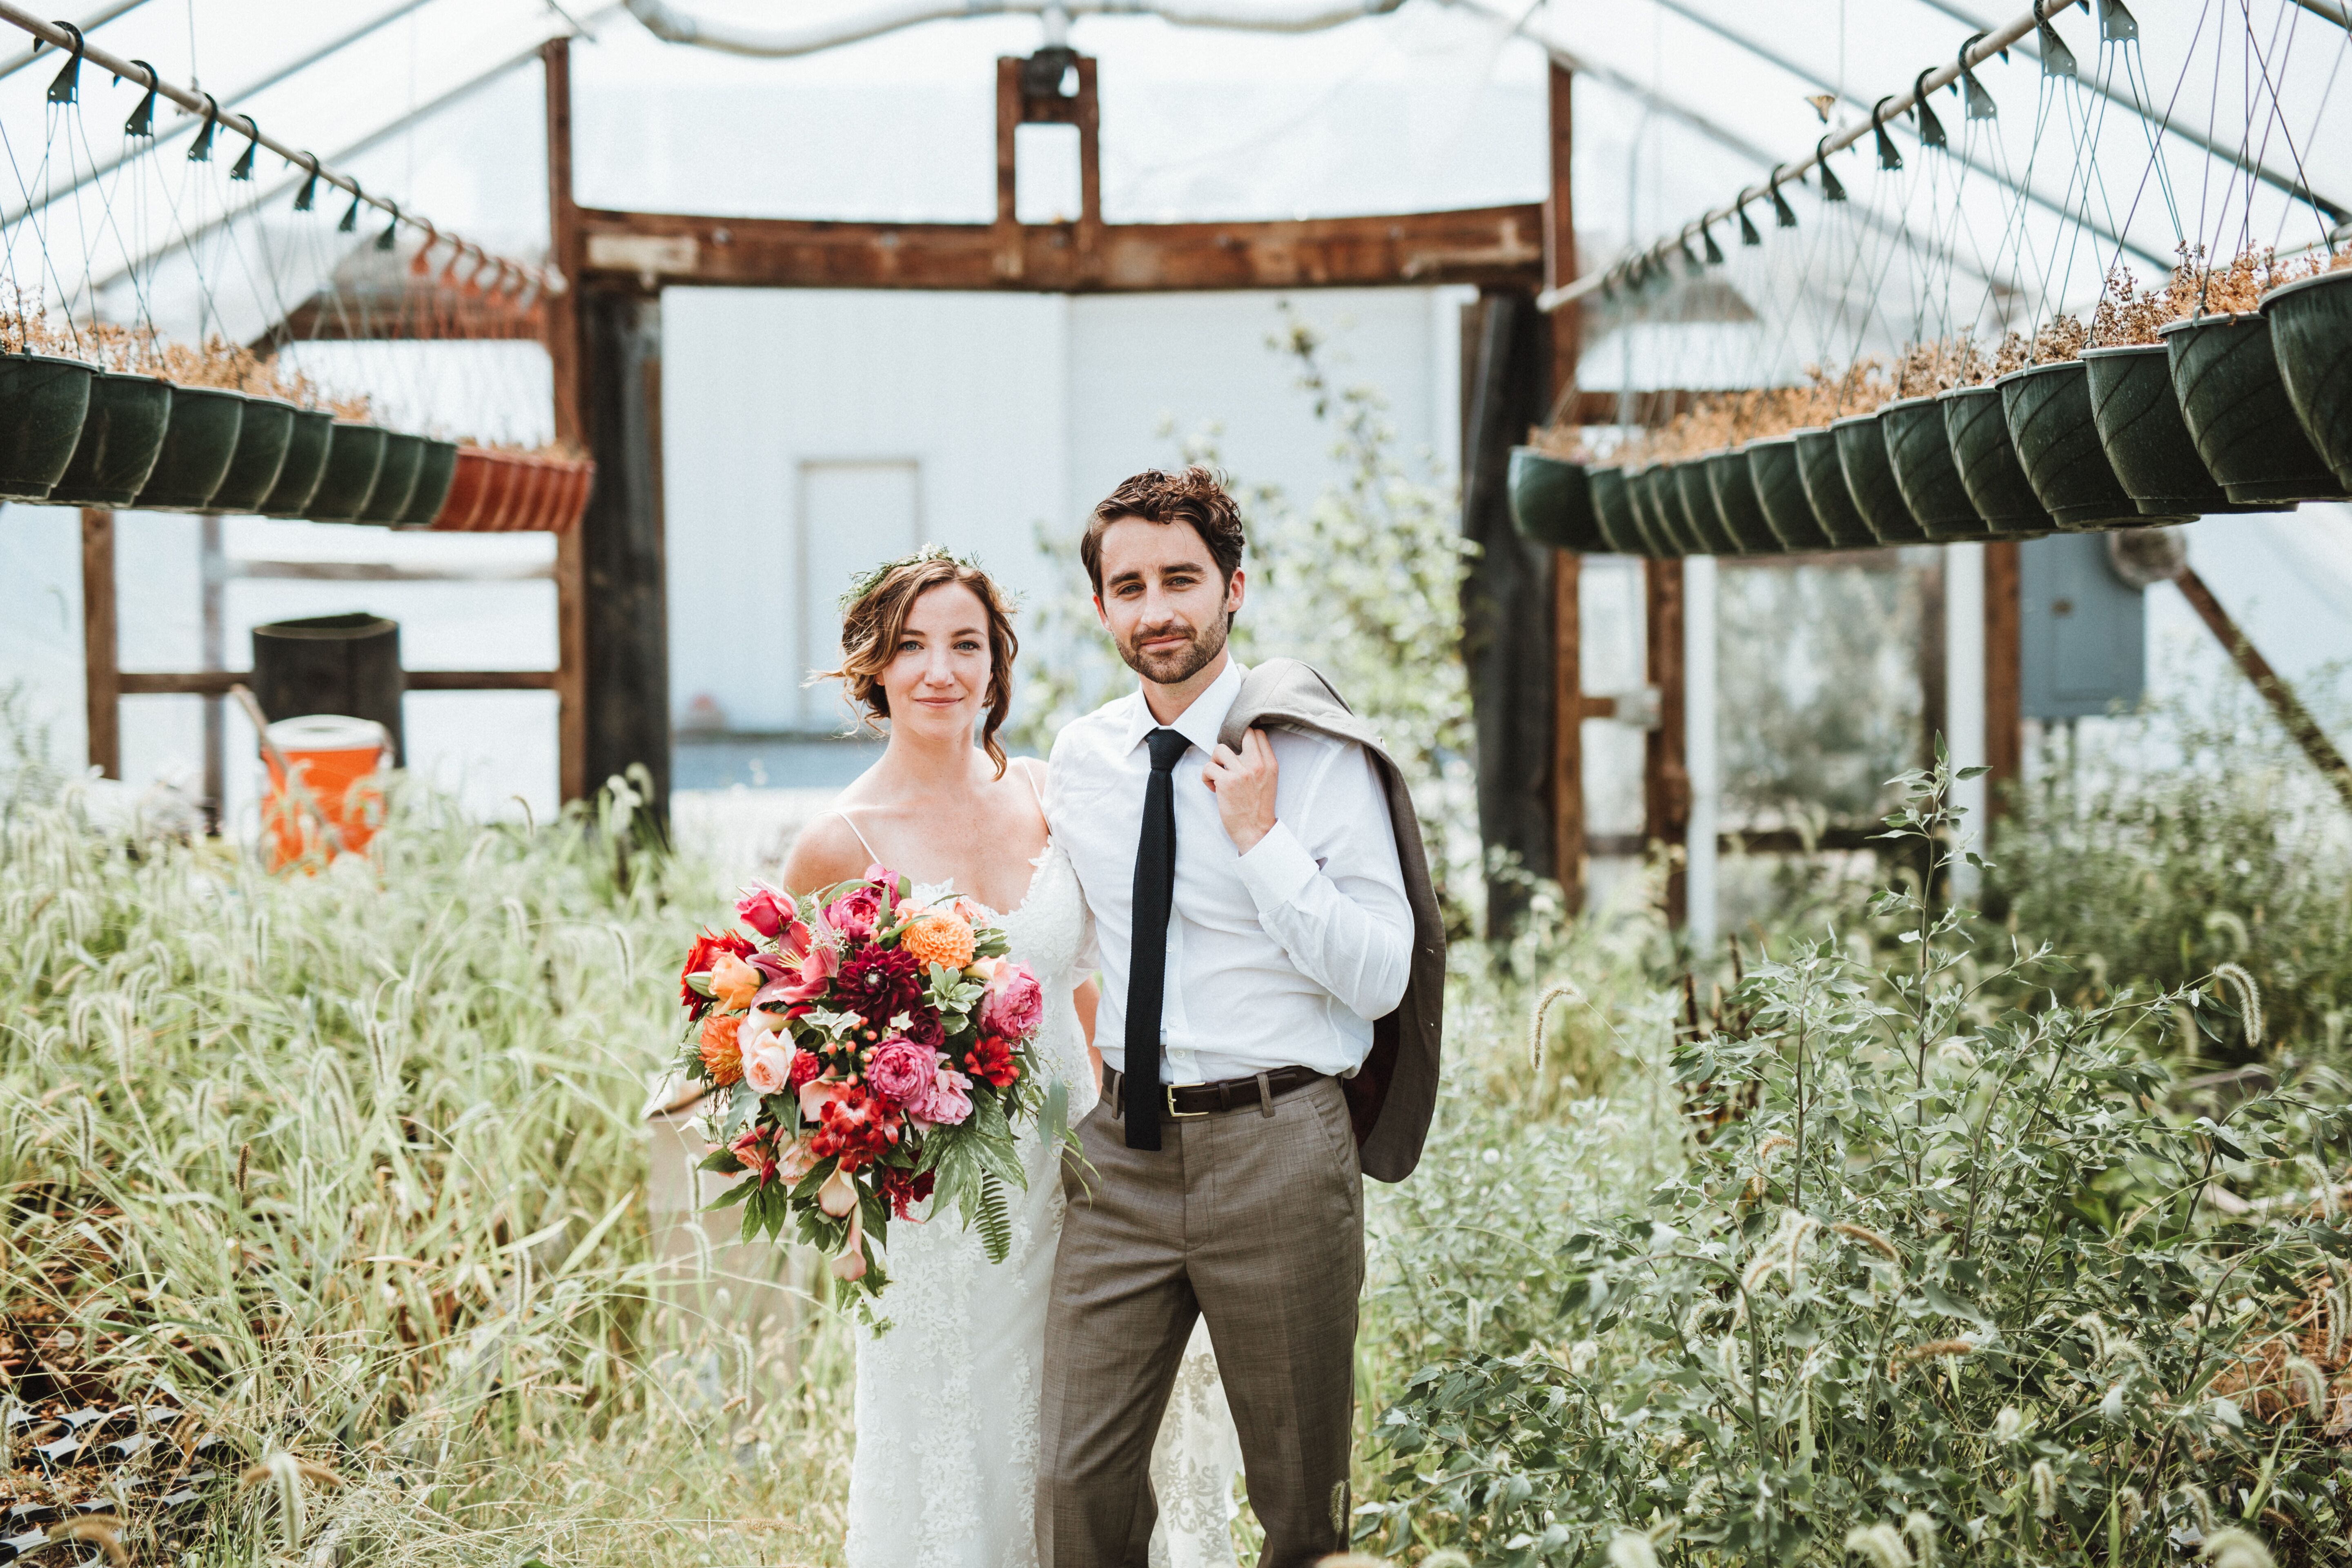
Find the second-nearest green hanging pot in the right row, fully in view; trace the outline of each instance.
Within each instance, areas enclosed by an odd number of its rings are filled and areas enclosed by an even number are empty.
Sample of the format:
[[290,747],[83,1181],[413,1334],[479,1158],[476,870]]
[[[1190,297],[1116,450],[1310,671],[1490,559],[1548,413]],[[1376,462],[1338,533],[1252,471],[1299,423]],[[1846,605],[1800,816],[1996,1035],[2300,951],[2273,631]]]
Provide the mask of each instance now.
[[2159,327],[2197,456],[2232,501],[2345,501],[2279,381],[2270,322],[2246,310]]

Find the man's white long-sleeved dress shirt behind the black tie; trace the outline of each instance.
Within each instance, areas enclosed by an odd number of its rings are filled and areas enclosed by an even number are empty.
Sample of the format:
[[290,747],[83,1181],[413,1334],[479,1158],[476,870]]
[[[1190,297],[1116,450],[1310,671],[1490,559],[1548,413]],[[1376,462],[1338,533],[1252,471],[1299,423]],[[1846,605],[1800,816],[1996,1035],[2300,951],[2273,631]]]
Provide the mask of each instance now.
[[[1204,1084],[1270,1067],[1350,1074],[1371,1051],[1371,1020],[1404,999],[1414,910],[1397,835],[1371,757],[1352,741],[1263,731],[1275,745],[1275,827],[1244,856],[1202,783],[1216,731],[1242,691],[1228,663],[1169,729],[1176,759],[1176,898],[1160,1074]],[[1047,778],[1047,823],[1070,856],[1094,914],[1103,1006],[1094,1044],[1127,1070],[1127,969],[1134,947],[1136,846],[1157,729],[1143,691],[1063,726]]]

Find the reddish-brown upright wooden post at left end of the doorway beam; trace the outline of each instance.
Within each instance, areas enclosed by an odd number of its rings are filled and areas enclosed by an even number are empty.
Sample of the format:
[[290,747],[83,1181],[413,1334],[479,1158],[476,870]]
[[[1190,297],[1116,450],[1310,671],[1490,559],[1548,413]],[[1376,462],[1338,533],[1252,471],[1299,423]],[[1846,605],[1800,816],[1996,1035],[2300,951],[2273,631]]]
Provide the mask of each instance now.
[[[555,440],[588,444],[581,425],[581,324],[579,292],[586,273],[581,214],[572,197],[572,40],[550,38],[541,47],[548,92],[548,228],[555,270],[569,284],[543,301],[548,367],[555,376]],[[588,778],[588,607],[581,527],[555,536],[555,729],[562,799],[586,799]]]

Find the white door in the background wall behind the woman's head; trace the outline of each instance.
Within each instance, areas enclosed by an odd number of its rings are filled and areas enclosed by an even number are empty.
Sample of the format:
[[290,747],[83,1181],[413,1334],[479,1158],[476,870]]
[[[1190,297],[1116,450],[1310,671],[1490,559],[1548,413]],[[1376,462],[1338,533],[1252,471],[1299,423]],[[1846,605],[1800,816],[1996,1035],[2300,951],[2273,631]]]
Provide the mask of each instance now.
[[[800,465],[800,668],[842,663],[840,597],[875,564],[913,555],[922,543],[922,468],[913,458],[826,461]],[[847,719],[837,682],[800,693],[802,724],[840,731]]]

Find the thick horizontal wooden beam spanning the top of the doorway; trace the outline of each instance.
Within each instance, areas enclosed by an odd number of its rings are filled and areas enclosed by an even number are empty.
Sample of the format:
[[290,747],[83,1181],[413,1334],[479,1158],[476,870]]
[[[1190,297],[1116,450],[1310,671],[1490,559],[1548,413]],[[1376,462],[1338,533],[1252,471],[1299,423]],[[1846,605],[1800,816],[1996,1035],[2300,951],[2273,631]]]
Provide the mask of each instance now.
[[[1002,202],[1002,188],[1000,188]],[[579,209],[583,287],[1152,294],[1543,282],[1543,207],[1268,223],[826,223]],[[1011,268],[1011,270],[1007,270]]]

